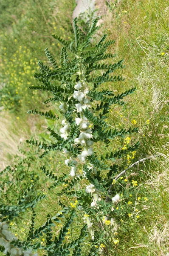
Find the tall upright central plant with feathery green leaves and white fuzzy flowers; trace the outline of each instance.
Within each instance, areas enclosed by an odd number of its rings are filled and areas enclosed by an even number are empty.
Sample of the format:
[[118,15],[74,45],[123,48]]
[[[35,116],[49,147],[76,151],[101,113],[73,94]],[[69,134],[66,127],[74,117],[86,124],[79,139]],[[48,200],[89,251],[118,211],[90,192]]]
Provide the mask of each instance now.
[[[133,93],[135,88],[118,95],[115,95],[112,90],[101,90],[105,82],[114,84],[116,81],[124,80],[122,76],[112,75],[114,71],[124,66],[123,60],[105,64],[107,58],[115,57],[113,53],[106,53],[107,48],[114,44],[114,40],[106,41],[106,34],[99,40],[97,37],[93,39],[93,35],[99,29],[97,22],[98,18],[93,20],[89,32],[81,37],[82,31],[75,19],[73,22],[75,39],[72,42],[53,35],[59,43],[63,44],[60,63],[57,64],[48,48],[45,49],[51,65],[48,67],[39,61],[40,73],[35,73],[34,77],[41,85],[32,86],[30,89],[51,92],[53,97],[44,103],[58,102],[63,119],[59,121],[60,118],[51,111],[44,113],[34,109],[28,113],[54,119],[58,125],[62,123],[62,128],[59,133],[48,128],[51,137],[55,139],[55,142],[49,145],[35,140],[27,141],[45,150],[40,158],[48,157],[47,154],[50,151],[65,154],[65,165],[69,170],[67,174],[63,173],[57,177],[45,166],[41,169],[54,180],[49,189],[54,189],[54,193],[60,195],[59,204],[62,205],[63,202],[68,204],[68,201],[72,201],[69,205],[70,209],[71,207],[76,209],[76,213],[86,221],[94,241],[99,241],[100,230],[104,233],[104,228],[102,228],[104,223],[115,225],[113,204],[120,199],[120,196],[112,186],[115,173],[117,174],[118,171],[118,166],[112,165],[112,162],[127,151],[135,151],[138,146],[138,143],[130,147],[126,144],[125,147],[110,154],[103,152],[101,157],[94,151],[97,143],[102,143],[107,147],[116,137],[125,138],[137,132],[137,128],[113,129],[107,122],[111,106],[113,104],[123,105],[124,97]],[[68,52],[70,52],[71,59]],[[101,75],[96,75],[96,73]],[[59,152],[56,153],[57,156]],[[67,202],[65,198],[68,199]],[[98,250],[101,250],[101,247]]]

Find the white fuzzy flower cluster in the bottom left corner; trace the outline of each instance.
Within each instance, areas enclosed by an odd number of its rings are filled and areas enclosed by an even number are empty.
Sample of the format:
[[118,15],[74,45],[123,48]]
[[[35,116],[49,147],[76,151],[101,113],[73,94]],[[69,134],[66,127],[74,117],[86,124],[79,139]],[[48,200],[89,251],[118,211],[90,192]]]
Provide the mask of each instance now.
[[[10,253],[10,256],[33,256],[32,250],[23,250],[23,248],[14,247],[10,244],[11,241],[16,241],[17,238],[8,229],[9,225],[6,221],[0,221],[0,245],[5,248],[4,253]],[[34,254],[38,256],[38,254]]]

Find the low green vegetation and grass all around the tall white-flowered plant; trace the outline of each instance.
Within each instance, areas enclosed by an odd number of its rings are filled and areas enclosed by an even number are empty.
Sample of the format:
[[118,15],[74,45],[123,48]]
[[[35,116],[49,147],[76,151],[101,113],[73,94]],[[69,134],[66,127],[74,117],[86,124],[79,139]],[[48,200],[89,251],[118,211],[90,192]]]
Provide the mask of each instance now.
[[[45,0],[41,3],[31,0],[25,3],[20,0],[15,3],[2,3],[0,120],[3,121],[3,130],[0,131],[0,137],[3,141],[3,151],[0,150],[0,153],[5,165],[10,164],[11,169],[8,167],[1,172],[0,193],[4,204],[16,204],[27,187],[31,187],[28,193],[29,201],[34,200],[34,197],[44,197],[34,208],[37,214],[35,228],[38,228],[45,223],[46,218],[56,215],[62,209],[62,205],[58,204],[60,196],[56,195],[61,192],[62,187],[48,190],[53,181],[48,179],[40,166],[45,165],[52,175],[59,176],[63,173],[69,175],[70,168],[65,166],[65,156],[62,153],[51,151],[48,156],[39,159],[38,156],[43,151],[25,144],[25,140],[30,137],[38,138],[43,143],[53,143],[54,140],[49,131],[46,132],[46,128],[50,127],[56,132],[61,128],[59,121],[27,114],[28,110],[36,108],[44,112],[51,109],[50,115],[53,113],[60,116],[57,103],[50,103],[50,108],[43,104],[46,96],[51,97],[51,93],[39,93],[28,87],[39,86],[39,81],[33,78],[33,73],[39,72],[37,62],[41,60],[44,64],[49,64],[44,54],[46,47],[59,62],[62,46],[51,34],[62,36],[66,41],[72,40],[71,12],[75,5],[72,2],[56,3]],[[101,90],[110,90],[118,95],[136,87],[135,93],[124,99],[123,106],[114,105],[111,108],[108,119],[105,120],[117,131],[138,127],[138,133],[127,135],[125,138],[119,137],[108,147],[99,142],[94,146],[94,151],[98,157],[106,157],[119,148],[125,151],[139,141],[140,146],[134,151],[128,151],[115,161],[112,157],[113,163],[120,166],[117,174],[140,159],[150,158],[128,169],[126,175],[120,176],[118,180],[113,180],[114,195],[120,195],[120,201],[113,206],[113,214],[116,216],[112,220],[114,222],[112,224],[109,218],[106,218],[102,220],[104,224],[101,224],[101,221],[96,224],[96,227],[101,225],[104,236],[97,237],[99,239],[96,239],[97,243],[94,245],[90,234],[85,237],[84,233],[82,255],[87,255],[89,251],[96,255],[96,248],[102,256],[120,256],[122,253],[127,256],[166,256],[169,251],[168,3],[161,0],[123,0],[119,3],[107,1],[104,8],[99,6],[99,2],[96,5],[105,12],[102,13],[103,23],[94,42],[98,41],[98,36],[108,34],[109,40],[115,40],[108,52],[116,56],[106,63],[113,64],[123,59],[125,65],[125,68],[120,70],[125,80],[115,83],[108,81],[101,84]],[[85,21],[81,20],[79,24],[84,25]],[[84,29],[88,30],[86,24]],[[103,73],[96,71],[95,75]],[[20,150],[17,149],[18,141]],[[6,151],[10,154],[6,154]],[[19,156],[14,157],[16,151]],[[84,186],[84,183],[82,185]],[[79,204],[76,203],[76,198],[65,196],[62,198],[62,204],[66,204],[69,210],[75,209],[78,212]],[[20,217],[11,220],[11,231],[21,241],[28,236],[31,225],[30,209],[28,207]],[[63,214],[68,217],[66,209]],[[67,227],[67,242],[72,242],[73,238],[77,239],[79,230],[85,225],[84,221],[80,220],[81,213],[78,214],[74,224]],[[55,236],[59,235],[63,223],[58,222],[55,226]],[[96,228],[95,233],[98,231]],[[34,240],[35,243],[38,241],[45,246],[46,236]],[[72,253],[72,250],[70,252]],[[42,255],[39,251],[38,253]]]

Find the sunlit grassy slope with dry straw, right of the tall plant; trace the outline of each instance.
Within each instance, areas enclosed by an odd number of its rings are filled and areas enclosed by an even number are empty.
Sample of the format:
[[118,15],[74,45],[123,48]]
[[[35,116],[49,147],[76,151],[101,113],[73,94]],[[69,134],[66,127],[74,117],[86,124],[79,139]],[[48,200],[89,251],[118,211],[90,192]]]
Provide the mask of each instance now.
[[[124,88],[137,87],[123,110],[119,112],[116,109],[115,118],[127,123],[136,120],[141,141],[137,159],[145,154],[160,156],[157,161],[148,161],[132,169],[138,174],[135,176],[139,180],[137,196],[141,194],[143,198],[137,205],[140,218],[136,222],[134,218],[129,218],[122,223],[118,253],[116,251],[113,255],[121,255],[124,251],[127,256],[164,256],[169,251],[168,3],[161,0],[124,0],[114,6],[110,2],[103,20],[103,31],[108,30],[110,38],[116,40],[110,51],[124,58],[126,64],[126,81],[111,88],[121,92]],[[148,201],[144,200],[144,196]]]

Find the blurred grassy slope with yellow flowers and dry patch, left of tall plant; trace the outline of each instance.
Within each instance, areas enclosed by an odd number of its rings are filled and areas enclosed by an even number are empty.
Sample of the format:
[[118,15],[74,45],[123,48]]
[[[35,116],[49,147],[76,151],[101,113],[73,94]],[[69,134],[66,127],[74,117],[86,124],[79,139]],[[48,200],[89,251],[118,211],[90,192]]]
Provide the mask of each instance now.
[[46,47],[59,61],[62,46],[51,35],[70,38],[73,9],[71,0],[2,0],[0,3],[0,122],[3,123],[0,166],[3,162],[8,164],[11,155],[18,153],[20,139],[25,141],[41,127],[37,117],[29,116],[27,111],[33,108],[45,111],[42,102],[46,96],[28,87],[39,84],[33,74],[38,72],[39,60],[45,64],[48,61]]

